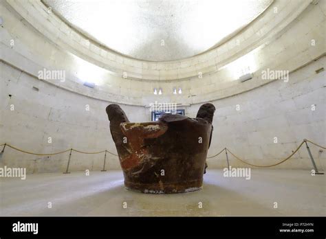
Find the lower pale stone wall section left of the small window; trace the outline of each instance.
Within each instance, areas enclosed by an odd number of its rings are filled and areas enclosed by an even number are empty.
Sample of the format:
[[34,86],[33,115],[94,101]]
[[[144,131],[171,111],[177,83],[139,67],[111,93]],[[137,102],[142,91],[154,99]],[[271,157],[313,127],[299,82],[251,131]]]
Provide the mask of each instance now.
[[[0,144],[36,153],[61,152],[69,148],[84,152],[116,153],[105,108],[109,102],[95,100],[58,88],[0,62]],[[121,105],[129,119],[148,120],[140,106]],[[50,137],[50,140],[49,140]],[[50,142],[50,143],[49,143]],[[69,152],[50,157],[34,156],[6,148],[0,163],[25,167],[32,172],[64,172]],[[104,153],[72,153],[70,170],[100,170]],[[116,156],[107,154],[107,169],[118,169]]]

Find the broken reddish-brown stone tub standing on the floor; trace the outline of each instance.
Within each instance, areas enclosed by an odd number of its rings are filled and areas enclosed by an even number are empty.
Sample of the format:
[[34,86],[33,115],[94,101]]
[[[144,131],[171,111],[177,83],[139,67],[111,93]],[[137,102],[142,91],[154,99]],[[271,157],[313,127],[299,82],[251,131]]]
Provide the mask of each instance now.
[[167,194],[202,188],[213,104],[203,104],[194,119],[164,114],[144,123],[129,122],[117,104],[106,110],[127,189]]

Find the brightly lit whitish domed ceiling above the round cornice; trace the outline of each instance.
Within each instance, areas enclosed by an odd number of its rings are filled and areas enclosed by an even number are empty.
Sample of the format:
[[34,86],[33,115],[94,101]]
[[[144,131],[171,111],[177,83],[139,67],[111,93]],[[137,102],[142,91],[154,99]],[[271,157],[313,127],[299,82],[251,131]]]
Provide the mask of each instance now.
[[273,0],[43,0],[84,34],[141,60],[195,56],[250,23]]

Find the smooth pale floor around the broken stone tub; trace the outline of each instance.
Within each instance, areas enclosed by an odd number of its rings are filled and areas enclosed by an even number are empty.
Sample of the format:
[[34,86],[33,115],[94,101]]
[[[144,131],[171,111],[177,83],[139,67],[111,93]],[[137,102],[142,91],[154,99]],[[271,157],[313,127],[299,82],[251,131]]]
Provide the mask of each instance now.
[[325,185],[309,170],[208,170],[203,190],[157,195],[125,190],[121,171],[30,174],[0,178],[0,216],[325,216]]

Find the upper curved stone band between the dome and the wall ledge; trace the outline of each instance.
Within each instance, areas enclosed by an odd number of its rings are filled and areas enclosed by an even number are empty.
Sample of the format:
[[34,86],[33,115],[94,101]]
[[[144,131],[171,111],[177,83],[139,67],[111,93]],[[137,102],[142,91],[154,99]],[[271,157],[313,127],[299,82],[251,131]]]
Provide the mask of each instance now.
[[[33,4],[28,6],[21,4],[30,4],[30,2],[8,1],[8,3],[1,4],[1,9],[5,13],[3,14],[3,28],[1,28],[3,35],[1,52],[3,52],[3,59],[6,62],[32,73],[34,76],[37,76],[37,72],[44,67],[65,70],[67,81],[52,81],[53,84],[94,98],[123,104],[144,106],[155,101],[197,104],[226,98],[265,84],[265,81],[261,80],[261,71],[267,67],[294,71],[325,54],[325,44],[323,44],[325,41],[325,2],[322,1],[314,5],[309,1],[274,1],[268,10],[248,25],[246,30],[233,36],[233,40],[230,39],[227,43],[213,49],[219,52],[215,56],[213,70],[209,69],[210,65],[205,63],[206,55],[208,57],[212,54],[207,52],[187,59],[190,62],[196,62],[195,65],[180,62],[182,66],[187,65],[192,71],[186,78],[162,69],[159,69],[162,74],[171,77],[159,80],[155,80],[155,77],[152,76],[134,78],[134,72],[129,70],[130,66],[125,63],[128,60],[120,62],[120,67],[124,70],[117,74],[117,71],[107,69],[103,58],[98,58],[98,61],[95,62],[89,58],[87,52],[79,54],[67,48],[67,45],[62,45],[61,41],[55,38],[57,35],[62,35],[62,32],[60,34],[44,32],[43,30],[59,31],[61,28],[54,25],[45,25],[41,28],[39,27],[40,23],[50,24],[50,20],[43,19],[41,21],[42,19],[39,19],[36,21],[34,19],[32,21],[30,19],[32,16],[41,18],[47,14],[44,9],[43,14],[34,12],[40,10],[43,3],[33,1]],[[279,4],[283,4],[283,6]],[[25,14],[22,11],[25,11]],[[273,14],[276,14],[277,17]],[[52,14],[47,14],[47,17],[50,16]],[[272,16],[276,18],[274,21]],[[22,21],[20,21],[21,19]],[[266,22],[274,25],[268,25]],[[251,33],[246,33],[247,31]],[[257,33],[257,31],[261,33]],[[48,34],[52,36],[52,39],[47,37]],[[259,35],[264,35],[264,37],[257,38]],[[69,39],[70,37],[65,35],[64,38]],[[12,40],[17,43],[14,47],[10,45]],[[245,40],[248,43],[245,44]],[[312,45],[312,41],[314,45]],[[83,47],[78,47],[76,41],[72,41],[71,45],[80,50],[83,49]],[[230,45],[235,45],[235,48]],[[96,63],[99,67],[89,62]],[[152,63],[142,62],[142,65]],[[155,62],[153,64],[168,64],[175,67],[173,66],[174,62]],[[254,78],[241,83],[237,80],[241,73],[237,71],[243,67],[250,67]],[[89,73],[83,72],[83,69],[91,71],[91,76]],[[126,74],[123,75],[123,72]],[[144,73],[142,68],[138,72]],[[81,85],[83,78],[99,80],[101,83],[93,93]],[[181,87],[182,95],[174,95],[173,87]],[[154,88],[162,88],[163,94],[153,95]]]

